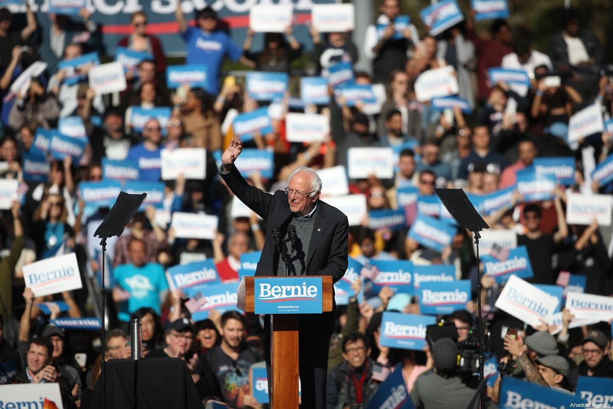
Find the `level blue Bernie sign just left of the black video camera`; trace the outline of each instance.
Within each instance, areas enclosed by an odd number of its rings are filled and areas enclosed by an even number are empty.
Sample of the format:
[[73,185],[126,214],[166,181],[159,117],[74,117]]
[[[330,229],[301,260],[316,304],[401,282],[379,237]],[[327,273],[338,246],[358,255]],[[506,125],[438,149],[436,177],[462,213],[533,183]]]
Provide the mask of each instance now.
[[425,328],[435,322],[434,316],[386,311],[379,328],[380,343],[390,348],[421,351],[426,345]]

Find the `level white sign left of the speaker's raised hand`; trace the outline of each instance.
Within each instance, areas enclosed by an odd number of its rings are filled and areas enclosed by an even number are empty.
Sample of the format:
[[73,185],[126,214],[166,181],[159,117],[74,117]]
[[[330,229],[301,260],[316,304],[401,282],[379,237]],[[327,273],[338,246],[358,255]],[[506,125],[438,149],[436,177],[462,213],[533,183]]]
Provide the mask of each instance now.
[[183,174],[186,179],[204,180],[207,176],[205,148],[162,149],[162,180],[174,180]]

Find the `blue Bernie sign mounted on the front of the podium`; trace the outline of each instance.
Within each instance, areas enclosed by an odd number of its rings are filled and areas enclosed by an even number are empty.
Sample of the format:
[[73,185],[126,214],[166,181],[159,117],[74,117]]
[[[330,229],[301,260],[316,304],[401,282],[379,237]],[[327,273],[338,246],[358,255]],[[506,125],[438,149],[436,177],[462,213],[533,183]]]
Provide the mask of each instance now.
[[256,314],[319,314],[321,277],[256,278]]

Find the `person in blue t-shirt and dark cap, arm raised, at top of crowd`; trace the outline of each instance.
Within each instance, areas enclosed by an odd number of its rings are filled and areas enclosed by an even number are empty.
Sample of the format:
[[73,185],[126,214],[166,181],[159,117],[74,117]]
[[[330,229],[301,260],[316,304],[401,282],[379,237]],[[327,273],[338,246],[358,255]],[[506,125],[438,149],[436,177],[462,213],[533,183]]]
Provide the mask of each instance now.
[[178,3],[175,12],[181,36],[187,45],[186,64],[202,64],[207,66],[207,92],[213,95],[219,93],[219,67],[224,56],[232,61],[240,60],[252,66],[251,61],[243,57],[243,52],[233,42],[226,32],[217,29],[217,15],[211,7],[205,7],[197,14],[196,27],[188,26],[188,21]]

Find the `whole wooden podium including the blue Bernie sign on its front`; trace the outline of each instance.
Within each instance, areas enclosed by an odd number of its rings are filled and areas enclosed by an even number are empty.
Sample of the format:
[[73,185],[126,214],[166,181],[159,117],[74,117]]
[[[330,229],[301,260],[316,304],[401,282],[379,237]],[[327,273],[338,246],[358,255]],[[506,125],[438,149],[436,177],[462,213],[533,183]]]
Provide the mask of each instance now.
[[328,275],[247,276],[241,280],[237,307],[248,313],[272,315],[272,384],[268,385],[272,409],[298,408],[299,314],[331,312],[332,301],[332,277]]

